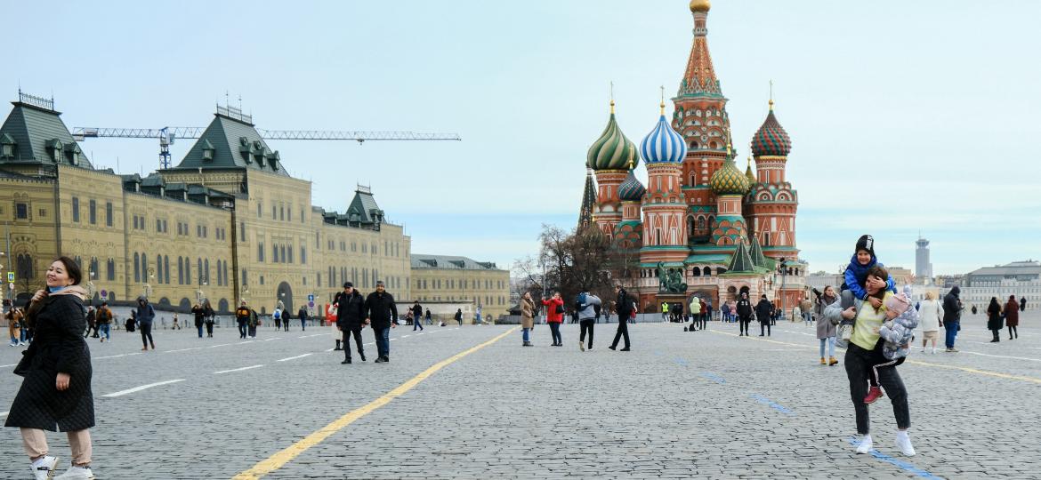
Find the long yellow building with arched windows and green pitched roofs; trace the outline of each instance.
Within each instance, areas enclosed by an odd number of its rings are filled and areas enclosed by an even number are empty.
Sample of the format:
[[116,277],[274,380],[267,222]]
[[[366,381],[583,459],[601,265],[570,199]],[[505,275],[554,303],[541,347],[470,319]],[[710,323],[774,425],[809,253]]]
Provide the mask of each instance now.
[[0,127],[0,248],[19,298],[59,255],[79,261],[95,302],[147,295],[184,310],[207,298],[226,313],[244,299],[296,313],[308,295],[318,304],[346,281],[367,292],[377,279],[411,298],[410,238],[372,191],[359,186],[342,213],[312,206],[311,183],[289,176],[251,115],[219,107],[179,164],[142,178],[95,168],[53,100],[19,92],[12,104]]

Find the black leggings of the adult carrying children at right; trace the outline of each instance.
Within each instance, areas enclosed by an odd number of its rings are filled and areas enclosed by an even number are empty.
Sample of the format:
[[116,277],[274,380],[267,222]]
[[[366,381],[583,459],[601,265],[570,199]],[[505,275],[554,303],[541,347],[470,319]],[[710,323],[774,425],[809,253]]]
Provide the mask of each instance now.
[[[846,349],[845,368],[846,377],[849,379],[849,398],[853,400],[853,409],[857,415],[857,433],[862,435],[866,435],[870,431],[870,420],[864,397],[867,396],[867,382],[871,375],[871,369],[877,364],[877,358],[874,350],[865,350],[853,342]],[[880,368],[879,382],[886,389],[889,401],[893,404],[896,428],[903,430],[910,427],[911,409],[908,407],[908,392],[896,368]]]

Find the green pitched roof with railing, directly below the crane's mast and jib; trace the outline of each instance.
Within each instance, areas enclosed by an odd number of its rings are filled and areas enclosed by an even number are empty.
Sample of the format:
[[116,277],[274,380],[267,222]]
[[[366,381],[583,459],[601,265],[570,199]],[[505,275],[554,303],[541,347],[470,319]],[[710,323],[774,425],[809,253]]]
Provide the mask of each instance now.
[[[211,150],[212,158],[204,151]],[[278,152],[272,151],[252,124],[215,113],[213,122],[174,169],[245,168],[289,177]]]

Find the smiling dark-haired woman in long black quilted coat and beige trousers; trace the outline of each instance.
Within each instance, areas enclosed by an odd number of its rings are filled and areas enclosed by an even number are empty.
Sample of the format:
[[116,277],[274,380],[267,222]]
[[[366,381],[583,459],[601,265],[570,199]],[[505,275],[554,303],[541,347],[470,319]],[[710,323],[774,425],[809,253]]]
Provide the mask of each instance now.
[[82,270],[60,257],[47,269],[47,289],[37,291],[26,310],[35,329],[33,342],[15,373],[22,385],[4,425],[17,427],[31,461],[33,477],[49,479],[58,458],[50,455],[44,430],[64,431],[72,450],[72,465],[58,478],[91,479],[91,427],[95,425],[91,349],[83,340],[86,290]]

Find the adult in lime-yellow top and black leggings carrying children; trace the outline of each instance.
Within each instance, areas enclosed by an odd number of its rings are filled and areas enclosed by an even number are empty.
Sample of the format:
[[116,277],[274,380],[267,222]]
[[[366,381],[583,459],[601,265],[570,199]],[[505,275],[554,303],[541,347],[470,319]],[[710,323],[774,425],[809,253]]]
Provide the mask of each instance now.
[[[864,290],[868,296],[874,296],[885,300],[892,296],[888,292],[889,272],[880,266],[871,267],[868,271],[867,283]],[[873,308],[864,309],[864,300],[856,298],[854,306],[842,310],[842,302],[836,301],[824,309],[826,319],[833,324],[839,324],[842,319],[854,320],[853,336],[849,339],[849,346],[845,353],[846,378],[849,380],[849,397],[853,400],[854,412],[857,419],[857,433],[861,435],[857,443],[857,453],[869,453],[873,448],[870,434],[870,420],[868,417],[868,405],[864,403],[867,396],[868,378],[871,375],[872,366],[879,363],[882,357],[882,348],[885,339],[879,335],[879,329],[886,318],[885,310],[875,311]],[[885,367],[878,369],[879,383],[885,389],[886,395],[893,406],[893,416],[896,418],[896,448],[905,455],[915,454],[911,445],[911,437],[908,435],[908,428],[911,427],[911,410],[908,405],[907,389],[904,380],[900,379],[896,367]]]

